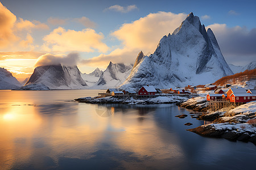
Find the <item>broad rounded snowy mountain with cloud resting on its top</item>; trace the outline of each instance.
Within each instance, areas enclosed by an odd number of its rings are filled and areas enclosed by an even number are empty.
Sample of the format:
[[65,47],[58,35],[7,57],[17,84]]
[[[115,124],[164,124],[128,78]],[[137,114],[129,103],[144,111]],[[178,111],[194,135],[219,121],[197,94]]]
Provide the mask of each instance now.
[[49,65],[36,67],[25,86],[19,90],[47,90],[47,87],[50,90],[81,89],[86,86],[77,66]]

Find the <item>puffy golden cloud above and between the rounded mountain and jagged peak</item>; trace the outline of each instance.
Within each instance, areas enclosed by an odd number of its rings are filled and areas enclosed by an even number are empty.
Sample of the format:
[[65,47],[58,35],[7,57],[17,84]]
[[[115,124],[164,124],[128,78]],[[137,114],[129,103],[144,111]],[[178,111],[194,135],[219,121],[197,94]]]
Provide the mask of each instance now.
[[49,35],[44,36],[46,41],[43,45],[46,50],[54,50],[61,52],[80,51],[99,52],[108,51],[108,46],[102,42],[104,35],[96,33],[94,29],[82,29],[82,31],[65,30],[62,27],[54,29]]

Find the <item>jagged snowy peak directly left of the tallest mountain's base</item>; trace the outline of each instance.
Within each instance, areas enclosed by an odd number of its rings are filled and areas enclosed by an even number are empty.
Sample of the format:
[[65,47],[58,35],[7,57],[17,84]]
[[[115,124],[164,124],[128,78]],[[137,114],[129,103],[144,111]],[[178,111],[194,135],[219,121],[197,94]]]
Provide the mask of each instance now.
[[112,63],[110,61],[109,66],[98,79],[98,82],[92,86],[92,88],[113,88],[122,84],[127,76],[129,76],[132,64],[126,63]]

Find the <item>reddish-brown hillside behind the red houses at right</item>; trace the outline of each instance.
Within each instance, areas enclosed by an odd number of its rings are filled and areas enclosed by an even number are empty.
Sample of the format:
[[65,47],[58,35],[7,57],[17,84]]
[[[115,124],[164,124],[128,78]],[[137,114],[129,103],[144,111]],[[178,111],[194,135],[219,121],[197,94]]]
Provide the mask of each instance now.
[[245,70],[241,73],[234,75],[224,76],[221,79],[218,79],[215,83],[216,86],[224,86],[225,84],[235,84],[237,82],[248,81],[250,79],[256,79],[256,69]]

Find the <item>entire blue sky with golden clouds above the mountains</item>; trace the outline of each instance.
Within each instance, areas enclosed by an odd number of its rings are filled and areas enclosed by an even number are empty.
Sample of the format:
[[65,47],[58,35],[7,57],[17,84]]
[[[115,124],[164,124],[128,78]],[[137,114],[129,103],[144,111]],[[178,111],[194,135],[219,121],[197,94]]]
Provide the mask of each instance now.
[[256,60],[256,1],[0,0],[0,67],[18,80],[40,64],[134,63],[193,12],[211,28],[228,63]]

